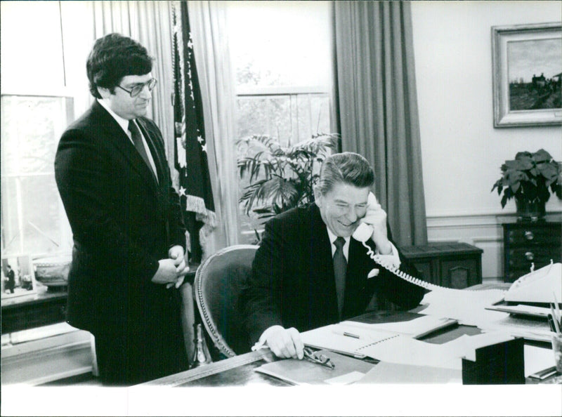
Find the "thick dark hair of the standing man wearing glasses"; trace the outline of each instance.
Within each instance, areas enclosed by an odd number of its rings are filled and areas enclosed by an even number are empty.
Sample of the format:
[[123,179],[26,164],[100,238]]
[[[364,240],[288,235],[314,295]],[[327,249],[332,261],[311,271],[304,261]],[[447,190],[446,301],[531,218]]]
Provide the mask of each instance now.
[[90,93],[101,98],[99,86],[114,94],[123,77],[152,71],[152,59],[144,46],[122,34],[110,33],[97,39],[86,62]]

